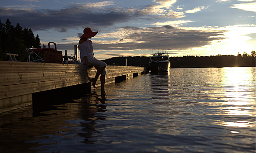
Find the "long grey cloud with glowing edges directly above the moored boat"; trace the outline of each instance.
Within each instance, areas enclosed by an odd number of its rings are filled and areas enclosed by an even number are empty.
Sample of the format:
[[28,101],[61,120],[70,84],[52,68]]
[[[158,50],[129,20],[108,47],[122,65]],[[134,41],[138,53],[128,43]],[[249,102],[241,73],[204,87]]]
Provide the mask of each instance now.
[[[169,25],[162,27],[148,27],[134,31],[123,31],[125,37],[116,42],[94,42],[96,50],[150,50],[153,46],[170,45],[171,49],[190,49],[210,45],[212,41],[224,39],[225,31],[185,30],[173,28]],[[122,32],[119,32],[120,34]],[[122,35],[122,34],[121,34]],[[119,41],[123,39],[124,41]],[[129,41],[126,41],[129,40]]]

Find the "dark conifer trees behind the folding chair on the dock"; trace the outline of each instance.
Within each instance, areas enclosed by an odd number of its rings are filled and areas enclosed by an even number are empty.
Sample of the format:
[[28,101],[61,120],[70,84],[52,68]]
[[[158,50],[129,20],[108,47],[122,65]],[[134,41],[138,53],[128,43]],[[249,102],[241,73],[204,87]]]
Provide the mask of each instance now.
[[19,23],[14,27],[9,19],[5,24],[0,19],[0,60],[8,60],[4,53],[14,53],[19,56],[19,61],[27,61],[26,48],[33,46],[39,48],[41,45],[39,35],[34,35],[31,28],[22,28]]

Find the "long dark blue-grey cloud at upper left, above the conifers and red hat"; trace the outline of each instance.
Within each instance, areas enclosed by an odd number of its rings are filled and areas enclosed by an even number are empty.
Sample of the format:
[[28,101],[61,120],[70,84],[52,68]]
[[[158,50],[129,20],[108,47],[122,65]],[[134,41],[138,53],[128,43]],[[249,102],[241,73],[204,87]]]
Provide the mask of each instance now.
[[[82,6],[73,6],[60,10],[49,9],[11,9],[0,8],[1,19],[9,18],[33,30],[78,28],[82,25],[112,26],[116,23],[127,22],[133,19],[133,13],[128,10],[100,10],[97,12]],[[84,27],[82,27],[84,28]]]

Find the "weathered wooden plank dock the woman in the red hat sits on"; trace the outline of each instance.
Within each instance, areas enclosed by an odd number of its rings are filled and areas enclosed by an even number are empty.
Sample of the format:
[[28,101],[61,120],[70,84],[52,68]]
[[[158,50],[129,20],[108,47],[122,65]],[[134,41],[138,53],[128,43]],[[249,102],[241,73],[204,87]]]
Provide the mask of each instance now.
[[[146,68],[107,66],[106,71],[108,82],[141,75],[146,73]],[[91,90],[95,74],[95,68],[85,65],[0,61],[0,109],[31,104],[33,94],[38,95],[48,90],[77,85],[85,85]]]

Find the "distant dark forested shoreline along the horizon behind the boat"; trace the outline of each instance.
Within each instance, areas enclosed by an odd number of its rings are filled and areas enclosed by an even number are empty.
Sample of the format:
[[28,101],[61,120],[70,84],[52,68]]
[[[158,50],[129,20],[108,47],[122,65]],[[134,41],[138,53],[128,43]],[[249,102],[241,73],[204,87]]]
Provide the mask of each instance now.
[[[129,57],[113,57],[102,60],[107,65],[124,66],[125,58],[127,66],[144,66],[149,67],[149,58],[146,56],[129,56]],[[217,56],[181,56],[170,57],[171,68],[186,68],[186,67],[255,67],[255,51],[251,55],[243,52],[234,55],[217,55]]]

